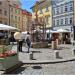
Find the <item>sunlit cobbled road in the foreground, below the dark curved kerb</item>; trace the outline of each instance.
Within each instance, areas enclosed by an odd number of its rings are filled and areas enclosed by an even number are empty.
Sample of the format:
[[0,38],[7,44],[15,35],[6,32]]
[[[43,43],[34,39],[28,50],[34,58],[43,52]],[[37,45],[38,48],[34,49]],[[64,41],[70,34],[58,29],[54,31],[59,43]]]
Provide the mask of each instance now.
[[[75,61],[56,64],[23,65],[15,75],[75,75]],[[10,74],[11,75],[11,74]]]

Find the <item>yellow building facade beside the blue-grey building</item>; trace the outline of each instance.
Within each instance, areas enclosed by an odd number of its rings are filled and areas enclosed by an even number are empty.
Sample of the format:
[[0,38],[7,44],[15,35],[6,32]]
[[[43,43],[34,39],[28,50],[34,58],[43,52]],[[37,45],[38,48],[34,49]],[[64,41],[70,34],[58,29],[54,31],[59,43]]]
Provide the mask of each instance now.
[[[32,7],[32,18],[36,19],[36,7]],[[52,7],[49,0],[38,2],[37,5],[38,21],[46,24],[46,30],[52,27]]]

